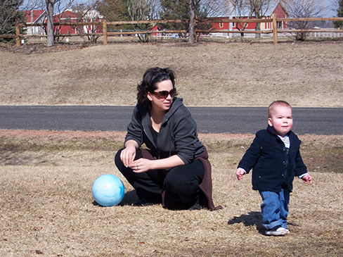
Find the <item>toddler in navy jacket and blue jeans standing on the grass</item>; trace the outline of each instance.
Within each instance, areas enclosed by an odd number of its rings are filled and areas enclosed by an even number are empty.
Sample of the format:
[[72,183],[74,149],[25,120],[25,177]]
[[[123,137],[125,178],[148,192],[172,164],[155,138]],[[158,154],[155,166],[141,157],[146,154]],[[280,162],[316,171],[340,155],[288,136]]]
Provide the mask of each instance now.
[[285,101],[274,101],[268,107],[268,127],[256,133],[254,141],[238,164],[241,180],[252,169],[252,189],[262,197],[262,224],[266,235],[289,234],[288,203],[295,176],[312,184],[299,148],[301,141],[292,132],[292,107]]

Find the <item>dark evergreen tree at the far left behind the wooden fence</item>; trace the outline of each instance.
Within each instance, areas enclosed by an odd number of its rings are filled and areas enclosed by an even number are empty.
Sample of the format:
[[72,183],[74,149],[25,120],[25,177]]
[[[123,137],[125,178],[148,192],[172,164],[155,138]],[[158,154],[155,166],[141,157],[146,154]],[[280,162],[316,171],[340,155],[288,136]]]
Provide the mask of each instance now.
[[[0,35],[15,35],[15,20],[24,23],[24,12],[18,11],[23,0],[0,0]],[[20,34],[24,32],[20,27]],[[0,42],[15,42],[15,38],[0,38]]]

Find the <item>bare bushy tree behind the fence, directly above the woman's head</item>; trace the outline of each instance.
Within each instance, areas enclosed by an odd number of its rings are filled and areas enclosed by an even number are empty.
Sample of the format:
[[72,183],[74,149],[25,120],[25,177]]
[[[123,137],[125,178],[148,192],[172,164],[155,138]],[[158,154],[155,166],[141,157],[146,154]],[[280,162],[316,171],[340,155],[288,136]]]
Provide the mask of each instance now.
[[[157,18],[157,10],[160,7],[159,0],[128,0],[127,8],[131,20],[154,20]],[[138,33],[138,38],[141,42],[148,42],[148,34],[140,34],[140,30],[150,30],[152,25],[150,23],[133,24],[134,30]]]

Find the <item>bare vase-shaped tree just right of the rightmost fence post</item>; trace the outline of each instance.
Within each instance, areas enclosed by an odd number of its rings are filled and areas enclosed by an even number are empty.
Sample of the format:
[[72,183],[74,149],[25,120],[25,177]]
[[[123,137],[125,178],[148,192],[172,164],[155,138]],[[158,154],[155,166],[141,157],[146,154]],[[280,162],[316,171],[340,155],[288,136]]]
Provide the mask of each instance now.
[[[282,0],[283,7],[290,18],[311,18],[321,17],[325,11],[323,0]],[[311,27],[309,20],[296,20],[289,23],[289,27],[295,30],[307,30]],[[304,41],[306,32],[296,32],[292,34],[296,40]]]

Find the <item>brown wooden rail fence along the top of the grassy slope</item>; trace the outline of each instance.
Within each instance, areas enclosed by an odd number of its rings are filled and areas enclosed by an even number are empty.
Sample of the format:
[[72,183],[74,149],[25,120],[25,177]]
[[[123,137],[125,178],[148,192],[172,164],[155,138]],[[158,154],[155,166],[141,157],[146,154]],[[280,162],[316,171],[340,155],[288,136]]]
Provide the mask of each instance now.
[[[218,18],[211,19],[208,18],[206,22],[221,22],[221,23],[272,23],[271,30],[195,30],[194,37],[197,37],[197,33],[228,33],[228,34],[273,34],[273,43],[276,44],[278,42],[278,33],[308,33],[308,32],[342,32],[342,30],[335,30],[335,29],[311,29],[311,30],[285,30],[285,29],[278,29],[277,23],[278,22],[290,22],[290,21],[316,21],[316,20],[343,20],[342,17],[339,18],[276,18],[276,15],[273,14],[271,18],[268,19],[229,19],[229,18]],[[80,36],[90,36],[90,35],[98,35],[103,36],[103,44],[108,44],[108,36],[111,35],[136,35],[136,34],[152,34],[152,33],[186,33],[186,30],[144,30],[144,31],[126,31],[126,32],[108,32],[107,27],[108,25],[124,25],[124,24],[161,24],[161,23],[181,23],[181,20],[138,20],[138,21],[112,21],[108,22],[107,20],[103,19],[102,22],[92,22],[92,23],[53,23],[54,26],[79,26],[79,25],[100,25],[103,27],[102,32],[98,33],[77,33],[77,34],[61,34],[58,37],[80,37]],[[6,38],[15,38],[15,42],[17,46],[20,46],[20,38],[21,37],[46,37],[46,35],[21,35],[20,34],[20,27],[29,27],[29,26],[41,26],[45,27],[46,23],[36,23],[36,24],[27,24],[27,23],[16,23],[15,25],[15,35],[0,35],[0,37]]]

